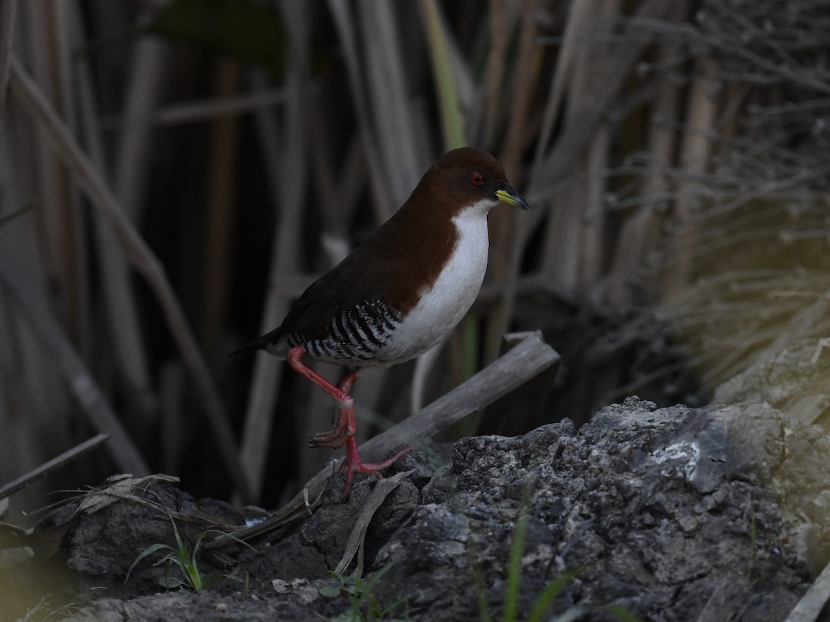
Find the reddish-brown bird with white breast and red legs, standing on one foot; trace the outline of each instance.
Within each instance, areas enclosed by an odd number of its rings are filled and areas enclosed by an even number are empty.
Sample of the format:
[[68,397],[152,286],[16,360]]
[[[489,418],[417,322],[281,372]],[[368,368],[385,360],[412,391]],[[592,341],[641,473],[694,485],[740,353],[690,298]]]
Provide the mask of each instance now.
[[[470,309],[487,267],[487,214],[500,203],[530,209],[490,153],[474,147],[445,153],[410,197],[373,235],[312,283],[280,326],[237,352],[261,349],[334,398],[333,429],[309,445],[346,446],[343,499],[354,472],[374,474],[409,449],[364,463],[354,440],[354,381],[407,362],[441,343]],[[335,386],[305,360],[347,368]]]

